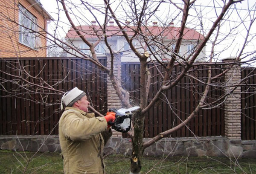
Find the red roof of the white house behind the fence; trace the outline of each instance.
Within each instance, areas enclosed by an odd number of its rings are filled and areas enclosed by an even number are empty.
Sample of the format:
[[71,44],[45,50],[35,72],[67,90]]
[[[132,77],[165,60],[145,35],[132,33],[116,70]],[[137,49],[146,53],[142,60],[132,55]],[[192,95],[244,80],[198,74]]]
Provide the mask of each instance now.
[[[91,26],[77,26],[77,28],[81,31],[81,34],[84,38],[98,38],[98,36],[102,35],[102,29],[100,26],[91,25]],[[126,31],[128,36],[134,35],[135,26],[123,27]],[[148,27],[141,27],[145,35],[151,36],[152,38],[162,36],[165,39],[175,40],[179,35],[180,27],[161,27],[161,26],[148,26]],[[97,35],[96,35],[97,33]],[[107,26],[107,36],[122,36],[122,32],[118,26]],[[66,38],[74,39],[80,38],[79,35],[75,32],[73,28],[67,32]],[[204,35],[201,35],[195,29],[184,29],[183,39],[185,40],[202,40]]]

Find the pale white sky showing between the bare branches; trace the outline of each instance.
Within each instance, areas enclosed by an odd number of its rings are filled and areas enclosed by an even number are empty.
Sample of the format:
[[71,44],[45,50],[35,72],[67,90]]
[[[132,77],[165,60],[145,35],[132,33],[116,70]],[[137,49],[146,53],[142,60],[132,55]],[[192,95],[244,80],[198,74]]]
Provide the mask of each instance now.
[[[93,3],[93,6],[100,6],[100,4],[102,4],[102,0],[89,0],[90,4]],[[117,0],[118,1],[118,0]],[[115,2],[117,2],[115,1]],[[50,3],[49,3],[50,2]],[[66,2],[68,2],[66,0]],[[79,6],[80,1],[79,0],[72,0],[72,2],[76,3],[77,6]],[[114,2],[114,1],[113,1]],[[180,2],[181,0],[175,0],[177,6],[180,6]],[[213,4],[214,2],[214,4]],[[44,9],[46,9],[46,11],[55,19],[55,21],[51,22],[49,27],[48,27],[48,31],[53,33],[55,31],[57,31],[56,33],[58,34],[59,38],[64,38],[68,29],[70,29],[70,25],[68,25],[68,20],[65,17],[65,14],[63,11],[58,12],[58,6],[55,0],[41,0],[41,3],[44,7]],[[167,4],[167,3],[166,3]],[[246,36],[246,30],[249,26],[249,20],[250,18],[247,17],[248,14],[248,8],[254,8],[253,13],[255,13],[255,0],[244,0],[241,3],[237,3],[236,7],[232,6],[232,9],[238,9],[237,12],[235,10],[230,11],[227,15],[229,15],[229,19],[230,21],[226,22],[224,24],[224,26],[221,27],[221,33],[227,33],[232,31],[232,35],[230,35],[229,38],[224,38],[222,37],[220,46],[218,46],[218,48],[216,48],[216,51],[222,51],[223,48],[225,48],[225,51],[222,52],[220,54],[221,58],[225,58],[225,57],[232,57],[232,56],[236,56],[239,53],[239,49],[241,49],[243,43],[241,42],[244,37]],[[119,3],[113,3],[113,5],[115,7],[119,6]],[[168,4],[167,4],[168,5]],[[157,16],[159,17],[158,22],[161,23],[161,21],[165,21],[164,19],[166,18],[166,16],[168,16],[168,18],[178,15],[177,13],[177,8],[172,6],[169,7],[167,5],[161,6],[160,9],[157,11]],[[204,24],[203,28],[204,28],[204,35],[207,34],[207,32],[209,31],[209,28],[212,26],[212,22],[216,17],[216,14],[219,14],[221,12],[221,8],[216,8],[213,9],[212,6],[217,6],[220,7],[221,5],[223,5],[221,0],[214,0],[214,1],[209,1],[209,0],[197,0],[196,1],[196,9],[192,9],[188,18],[188,22],[189,24],[187,25],[187,27],[189,28],[195,28],[197,29],[198,32],[202,32],[201,30],[201,23]],[[89,24],[90,21],[94,20],[93,16],[90,14],[90,12],[86,11],[85,9],[82,10],[76,10],[76,8],[74,8],[74,6],[71,5],[67,5],[68,7],[72,7],[72,11],[74,13],[76,13],[79,17],[81,17],[81,19],[75,20],[75,24],[76,25],[84,25],[84,24]],[[59,6],[61,7],[61,6]],[[100,7],[98,8],[100,9]],[[128,9],[127,7],[125,7],[125,9]],[[149,9],[150,10],[150,9]],[[104,17],[101,15],[100,10],[96,11],[94,9],[92,9],[90,7],[90,11],[94,12],[94,14],[96,14],[96,16],[99,18],[99,20],[104,19]],[[232,13],[231,13],[232,12]],[[122,10],[118,10],[117,14],[119,17],[125,16],[127,14],[125,14],[124,11]],[[239,15],[238,15],[239,14]],[[202,21],[198,20],[197,17],[201,15],[201,19]],[[254,15],[254,14],[252,14]],[[241,16],[241,18],[239,18],[239,16]],[[87,20],[82,20],[84,18],[87,17]],[[58,22],[58,28],[57,30],[55,29],[55,24],[56,21],[58,20],[58,18],[60,19]],[[73,17],[74,19],[75,17]],[[127,17],[126,17],[127,18]],[[179,19],[179,18],[178,18]],[[157,18],[154,18],[154,16],[151,18],[151,21],[149,21],[149,25],[151,25],[150,22],[156,21]],[[244,21],[244,23],[241,24],[241,20]],[[82,22],[81,22],[82,21]],[[100,21],[100,22],[102,22]],[[179,20],[175,20],[174,21],[175,26],[179,26],[180,25],[180,21]],[[253,28],[256,27],[255,24],[253,24]],[[253,33],[255,34],[255,33]],[[247,52],[251,52],[252,50],[256,50],[256,39],[255,38],[251,38],[252,42],[250,44],[247,45]],[[212,38],[213,40],[213,38]],[[209,51],[211,48],[211,44],[207,44],[207,50]]]

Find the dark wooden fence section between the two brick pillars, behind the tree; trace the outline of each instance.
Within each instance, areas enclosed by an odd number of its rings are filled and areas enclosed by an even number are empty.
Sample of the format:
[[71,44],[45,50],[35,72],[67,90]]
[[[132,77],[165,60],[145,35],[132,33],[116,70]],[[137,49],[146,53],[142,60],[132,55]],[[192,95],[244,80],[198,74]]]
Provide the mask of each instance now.
[[[157,69],[152,65],[148,67],[153,80],[149,90],[148,102],[154,97],[159,89],[159,85],[154,83],[160,81],[161,76]],[[158,67],[163,71],[161,67]],[[140,65],[122,64],[122,84],[123,87],[131,92],[131,101],[133,105],[139,104],[140,101]],[[180,73],[180,67],[176,67],[171,76]],[[206,81],[207,67],[197,67],[193,73],[199,78]],[[215,67],[212,71],[213,75],[220,74],[220,67]],[[216,83],[223,81],[223,78],[215,80]],[[169,100],[169,103],[161,102],[158,107],[153,107],[148,112],[145,118],[145,134],[146,138],[154,137],[157,134],[175,127],[185,120],[195,106],[204,90],[204,85],[198,83],[192,78],[183,78],[180,83],[172,88],[168,93],[165,93],[164,98]],[[223,91],[218,87],[211,87],[209,92],[208,102],[214,101],[221,96]],[[224,110],[223,105],[210,110],[201,110],[194,119],[183,127],[180,131],[172,134],[172,137],[191,137],[191,136],[223,136],[224,135]]]

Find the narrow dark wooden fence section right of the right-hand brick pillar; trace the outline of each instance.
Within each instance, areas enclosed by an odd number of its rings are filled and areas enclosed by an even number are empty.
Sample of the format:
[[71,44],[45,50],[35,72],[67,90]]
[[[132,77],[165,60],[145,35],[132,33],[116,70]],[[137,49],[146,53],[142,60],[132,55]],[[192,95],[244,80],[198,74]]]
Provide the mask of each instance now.
[[241,139],[256,140],[256,70],[244,68],[241,79]]

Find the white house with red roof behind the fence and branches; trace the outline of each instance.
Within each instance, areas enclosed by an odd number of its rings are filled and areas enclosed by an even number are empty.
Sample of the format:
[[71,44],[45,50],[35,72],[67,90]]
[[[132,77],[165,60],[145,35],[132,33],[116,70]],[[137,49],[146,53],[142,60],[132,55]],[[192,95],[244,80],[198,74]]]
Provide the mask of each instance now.
[[[128,24],[128,23],[127,23]],[[92,21],[90,26],[78,26],[78,29],[81,31],[84,38],[90,42],[96,42],[99,38],[102,37],[102,29],[100,26],[96,25],[95,21]],[[134,35],[134,26],[124,26],[124,29],[127,31],[129,37]],[[151,58],[158,58],[162,61],[170,59],[170,52],[175,48],[175,43],[179,35],[179,27],[173,26],[173,23],[168,27],[157,26],[157,22],[153,23],[153,26],[141,27],[143,33],[148,36],[148,46],[142,42],[141,38],[135,38],[133,41],[134,46],[139,52],[147,51],[151,55]],[[121,58],[123,62],[126,61],[139,61],[135,54],[131,51],[129,44],[125,40],[122,32],[118,26],[113,25],[113,21],[107,26],[106,35],[108,36],[108,43],[111,45],[111,48],[116,52],[121,53]],[[76,48],[79,48],[81,52],[85,54],[90,54],[89,47],[82,41],[82,39],[77,35],[73,28],[71,28],[66,35],[66,41],[70,44],[73,44]],[[192,50],[202,41],[204,38],[199,32],[195,29],[185,28],[183,41],[178,52],[179,56],[182,58],[187,58],[191,55]],[[157,41],[157,42],[155,42]],[[169,48],[169,49],[166,49]],[[70,50],[72,54],[67,56],[79,55],[79,52]],[[102,39],[99,44],[96,46],[96,53],[98,55],[105,55],[108,51],[104,40]],[[165,52],[165,53],[164,53]],[[205,48],[198,56],[196,61],[205,61],[206,57],[204,55]],[[167,53],[167,54],[166,54]]]

